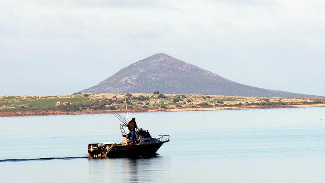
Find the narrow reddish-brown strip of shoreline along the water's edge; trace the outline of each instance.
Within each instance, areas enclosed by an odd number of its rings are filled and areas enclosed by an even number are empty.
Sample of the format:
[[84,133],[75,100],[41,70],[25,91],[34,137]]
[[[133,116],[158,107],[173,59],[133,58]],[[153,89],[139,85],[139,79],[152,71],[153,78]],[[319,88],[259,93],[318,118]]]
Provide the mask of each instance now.
[[[197,108],[168,108],[168,109],[129,109],[129,113],[144,112],[184,112],[184,111],[211,111],[211,110],[249,110],[249,109],[271,109],[271,108],[307,108],[325,107],[325,104],[297,104],[297,105],[249,105],[249,106],[228,106],[228,107],[197,107]],[[125,113],[125,109],[116,110],[83,110],[83,111],[16,111],[0,112],[0,117],[24,117],[24,116],[48,116],[48,115],[81,115],[81,114],[102,114],[102,113]]]

